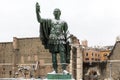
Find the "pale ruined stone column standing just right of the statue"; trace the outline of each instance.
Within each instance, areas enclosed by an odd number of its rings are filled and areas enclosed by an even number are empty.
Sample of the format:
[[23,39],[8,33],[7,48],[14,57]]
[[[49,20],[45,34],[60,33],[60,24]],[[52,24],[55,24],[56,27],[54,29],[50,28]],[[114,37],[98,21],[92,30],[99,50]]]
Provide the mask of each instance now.
[[[79,44],[72,44],[72,47],[76,48],[76,80],[82,80],[83,79],[83,55],[82,55],[82,48]],[[71,59],[70,59],[70,73],[72,73],[73,65],[72,65],[72,51],[71,51]]]

